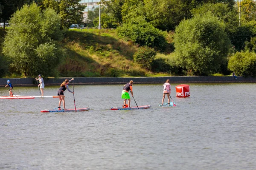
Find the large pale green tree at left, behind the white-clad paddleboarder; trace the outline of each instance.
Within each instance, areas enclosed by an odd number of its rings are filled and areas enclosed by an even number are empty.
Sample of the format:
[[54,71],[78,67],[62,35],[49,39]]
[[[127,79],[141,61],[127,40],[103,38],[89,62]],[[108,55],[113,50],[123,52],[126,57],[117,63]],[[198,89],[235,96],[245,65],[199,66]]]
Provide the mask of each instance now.
[[23,76],[52,76],[61,56],[55,42],[62,39],[60,20],[54,10],[41,12],[35,3],[17,10],[3,43],[3,54],[12,67]]

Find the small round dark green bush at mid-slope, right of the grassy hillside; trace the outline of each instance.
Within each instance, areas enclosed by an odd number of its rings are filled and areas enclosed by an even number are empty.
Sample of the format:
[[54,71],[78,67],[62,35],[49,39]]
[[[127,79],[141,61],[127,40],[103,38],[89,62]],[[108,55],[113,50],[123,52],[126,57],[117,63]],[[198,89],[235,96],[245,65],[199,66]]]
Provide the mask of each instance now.
[[157,53],[154,49],[149,47],[139,47],[133,55],[134,61],[140,64],[143,68],[151,70],[151,63],[156,57]]

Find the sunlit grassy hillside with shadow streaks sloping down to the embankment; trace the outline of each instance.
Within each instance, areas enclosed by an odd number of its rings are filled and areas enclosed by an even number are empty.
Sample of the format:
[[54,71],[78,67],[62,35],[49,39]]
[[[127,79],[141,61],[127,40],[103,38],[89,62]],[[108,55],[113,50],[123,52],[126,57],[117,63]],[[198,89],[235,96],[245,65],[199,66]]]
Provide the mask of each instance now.
[[[117,36],[115,30],[73,29],[62,41],[65,57],[60,77],[154,76],[133,61],[137,46]],[[167,74],[157,74],[156,76]]]

